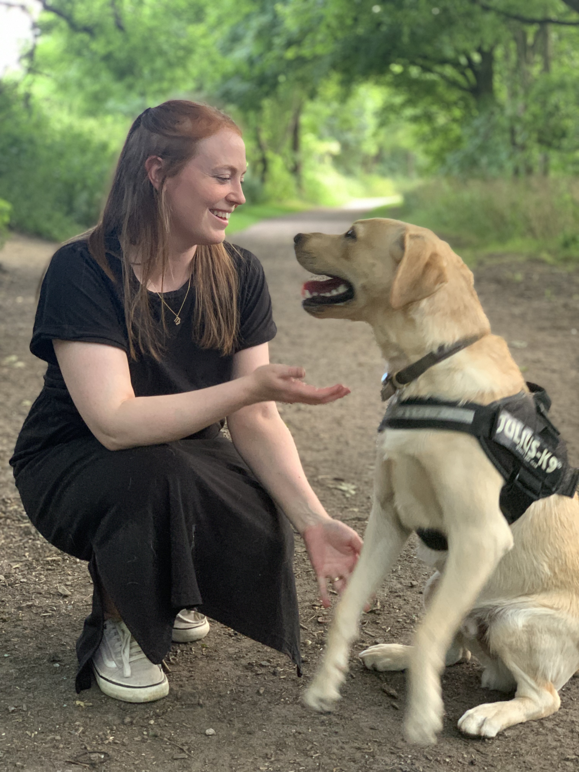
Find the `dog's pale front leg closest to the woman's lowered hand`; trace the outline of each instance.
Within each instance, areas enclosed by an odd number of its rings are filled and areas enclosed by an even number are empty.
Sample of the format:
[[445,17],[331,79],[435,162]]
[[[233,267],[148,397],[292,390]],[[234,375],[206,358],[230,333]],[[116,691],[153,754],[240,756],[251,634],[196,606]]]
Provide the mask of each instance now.
[[410,534],[401,526],[391,496],[384,500],[385,496],[380,496],[379,491],[377,494],[360,559],[330,626],[322,664],[303,697],[307,706],[323,713],[330,711],[340,699],[339,689],[347,672],[350,645],[357,637],[364,604],[378,589]]

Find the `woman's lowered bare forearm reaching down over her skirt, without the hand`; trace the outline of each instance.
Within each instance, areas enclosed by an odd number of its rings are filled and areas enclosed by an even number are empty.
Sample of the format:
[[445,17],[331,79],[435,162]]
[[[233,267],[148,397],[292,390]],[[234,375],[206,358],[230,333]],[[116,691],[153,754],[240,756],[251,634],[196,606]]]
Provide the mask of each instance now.
[[300,533],[330,520],[303,472],[296,444],[275,403],[262,402],[227,419],[235,448]]

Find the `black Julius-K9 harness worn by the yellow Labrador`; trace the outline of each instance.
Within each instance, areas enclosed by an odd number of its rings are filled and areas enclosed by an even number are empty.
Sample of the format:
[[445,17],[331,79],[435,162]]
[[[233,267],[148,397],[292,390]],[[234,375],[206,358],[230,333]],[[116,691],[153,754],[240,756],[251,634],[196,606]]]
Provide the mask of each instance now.
[[[460,347],[455,344],[452,354],[472,342],[465,341]],[[439,353],[440,350],[435,352]],[[390,382],[400,383],[399,378],[398,373]],[[527,383],[527,386],[530,393],[520,391],[490,405],[434,398],[401,401],[397,395],[390,401],[378,432],[385,428],[438,429],[476,437],[505,479],[499,506],[507,522],[512,524],[538,499],[554,493],[572,498],[579,481],[579,469],[569,465],[565,442],[550,422],[551,401],[547,392],[537,384]],[[427,547],[448,549],[445,535],[438,530],[418,529],[417,533]]]

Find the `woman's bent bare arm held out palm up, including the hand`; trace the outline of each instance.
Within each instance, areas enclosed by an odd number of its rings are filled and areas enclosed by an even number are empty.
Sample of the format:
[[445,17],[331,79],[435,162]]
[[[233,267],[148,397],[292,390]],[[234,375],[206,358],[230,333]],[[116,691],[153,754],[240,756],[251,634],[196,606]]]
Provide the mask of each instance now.
[[321,405],[348,393],[340,385],[317,389],[304,384],[301,367],[276,364],[198,391],[135,397],[123,350],[72,340],[54,340],[53,345],[77,410],[109,450],[181,439],[257,402]]

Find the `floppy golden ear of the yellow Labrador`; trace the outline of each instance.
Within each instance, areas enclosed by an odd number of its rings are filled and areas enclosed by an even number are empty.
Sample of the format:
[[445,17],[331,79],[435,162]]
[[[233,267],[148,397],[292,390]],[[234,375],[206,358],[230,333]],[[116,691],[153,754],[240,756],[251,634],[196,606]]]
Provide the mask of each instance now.
[[404,254],[390,291],[392,308],[399,309],[433,295],[447,283],[444,257],[419,233],[404,235]]

